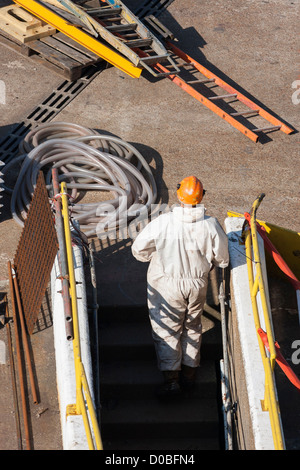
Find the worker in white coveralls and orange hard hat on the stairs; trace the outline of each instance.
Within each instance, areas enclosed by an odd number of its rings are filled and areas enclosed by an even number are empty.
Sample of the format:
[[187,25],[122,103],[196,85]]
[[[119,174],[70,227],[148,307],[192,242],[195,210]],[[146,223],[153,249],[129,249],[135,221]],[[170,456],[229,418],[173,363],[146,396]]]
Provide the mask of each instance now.
[[177,186],[180,206],[152,220],[137,236],[133,256],[150,261],[147,297],[158,367],[164,375],[161,396],[190,389],[200,364],[201,315],[208,275],[229,262],[225,232],[205,215],[201,181],[189,176]]

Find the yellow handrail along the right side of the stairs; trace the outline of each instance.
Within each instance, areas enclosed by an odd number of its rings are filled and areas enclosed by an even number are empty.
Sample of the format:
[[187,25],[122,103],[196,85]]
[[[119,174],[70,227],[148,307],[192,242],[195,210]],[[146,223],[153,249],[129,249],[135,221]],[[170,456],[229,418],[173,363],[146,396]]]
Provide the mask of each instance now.
[[[256,211],[263,198],[264,194],[261,194],[252,205],[250,225],[248,225],[247,229],[245,230],[245,249],[255,329],[257,332],[258,329],[261,328],[257,306],[257,294],[259,292],[268,343],[270,346],[270,354],[267,355],[262,339],[257,333],[259,349],[265,371],[265,396],[264,400],[262,400],[262,409],[264,411],[268,411],[270,415],[270,423],[275,450],[284,450],[284,438],[280,423],[280,410],[276,399],[274,382],[274,367],[276,360],[275,340],[273,337],[273,330],[270,320],[271,314],[269,312],[268,302],[266,298],[256,227]],[[254,261],[255,264],[255,276],[253,274],[252,261]]]

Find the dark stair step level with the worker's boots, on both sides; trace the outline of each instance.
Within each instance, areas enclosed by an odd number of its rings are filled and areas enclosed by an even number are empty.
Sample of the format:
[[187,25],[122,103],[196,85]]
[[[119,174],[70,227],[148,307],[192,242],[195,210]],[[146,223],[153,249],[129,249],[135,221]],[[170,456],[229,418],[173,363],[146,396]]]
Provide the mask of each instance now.
[[[100,394],[102,399],[153,397],[163,381],[156,361],[108,361],[100,368]],[[217,395],[216,363],[203,360],[197,371],[196,386],[190,393],[193,398]]]

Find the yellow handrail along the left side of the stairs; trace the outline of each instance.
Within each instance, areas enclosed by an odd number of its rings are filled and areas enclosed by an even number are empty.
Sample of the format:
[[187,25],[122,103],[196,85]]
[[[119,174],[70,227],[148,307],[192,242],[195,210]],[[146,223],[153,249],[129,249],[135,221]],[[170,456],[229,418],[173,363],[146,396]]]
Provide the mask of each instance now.
[[[70,230],[70,221],[69,221],[67,185],[65,182],[61,184],[60,195],[61,195],[61,201],[62,201],[62,215],[64,219],[64,232],[65,232],[66,251],[67,251],[67,260],[68,260],[68,272],[69,272],[73,331],[74,331],[73,353],[74,353],[74,365],[75,365],[75,377],[76,377],[76,403],[75,405],[69,405],[67,407],[67,414],[82,415],[89,449],[95,450],[94,440],[93,440],[91,427],[90,427],[90,422],[91,422],[92,429],[94,431],[96,449],[103,450],[96,412],[95,412],[92,397],[90,394],[84,366],[81,361],[76,280],[75,280],[75,272],[74,272],[73,249],[72,249],[72,239],[71,239],[71,230]],[[85,400],[86,400],[86,403],[85,403]],[[88,417],[87,410],[89,411],[90,418]]]

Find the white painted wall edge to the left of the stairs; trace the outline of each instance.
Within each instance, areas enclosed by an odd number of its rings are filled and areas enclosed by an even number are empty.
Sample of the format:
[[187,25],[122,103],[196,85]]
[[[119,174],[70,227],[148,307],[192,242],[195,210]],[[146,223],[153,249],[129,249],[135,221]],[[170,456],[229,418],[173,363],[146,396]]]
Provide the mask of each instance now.
[[[85,369],[92,400],[93,374],[90,352],[90,336],[87,315],[86,285],[83,270],[83,257],[79,246],[73,246],[73,259],[77,291],[78,323],[82,363]],[[75,368],[73,343],[66,339],[63,299],[60,293],[61,280],[58,258],[51,272],[51,295],[53,310],[54,347],[56,359],[56,380],[61,416],[62,444],[64,450],[88,450],[86,432],[81,415],[66,415],[68,405],[76,403]]]

